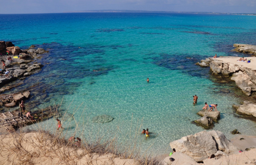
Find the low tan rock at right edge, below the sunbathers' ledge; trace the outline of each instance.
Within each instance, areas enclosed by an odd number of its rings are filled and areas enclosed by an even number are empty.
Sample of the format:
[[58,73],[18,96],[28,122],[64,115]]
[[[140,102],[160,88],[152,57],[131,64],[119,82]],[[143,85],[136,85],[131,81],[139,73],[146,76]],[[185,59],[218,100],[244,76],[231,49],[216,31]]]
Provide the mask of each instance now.
[[236,113],[240,115],[248,115],[256,118],[256,104],[251,101],[244,101],[242,105],[233,105]]

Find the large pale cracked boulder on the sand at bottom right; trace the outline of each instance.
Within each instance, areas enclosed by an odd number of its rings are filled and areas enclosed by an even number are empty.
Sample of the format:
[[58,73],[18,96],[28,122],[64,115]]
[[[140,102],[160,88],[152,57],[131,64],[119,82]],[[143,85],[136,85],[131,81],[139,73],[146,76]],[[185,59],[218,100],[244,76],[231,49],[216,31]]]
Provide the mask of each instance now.
[[170,142],[170,147],[188,155],[197,162],[207,159],[218,151],[226,155],[238,153],[238,148],[227,140],[222,132],[215,130],[202,131],[182,137],[179,140]]

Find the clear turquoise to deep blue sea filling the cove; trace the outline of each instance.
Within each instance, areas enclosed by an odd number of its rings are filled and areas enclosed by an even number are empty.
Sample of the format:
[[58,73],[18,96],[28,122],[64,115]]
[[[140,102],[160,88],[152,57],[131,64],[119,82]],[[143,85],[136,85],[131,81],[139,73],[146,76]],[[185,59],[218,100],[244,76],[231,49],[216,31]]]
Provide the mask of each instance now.
[[[26,49],[49,50],[39,73],[19,91],[44,84],[25,102],[32,111],[61,104],[63,133],[90,141],[115,139],[120,148],[141,153],[170,153],[169,143],[204,129],[191,124],[208,104],[218,104],[221,119],[214,130],[228,139],[238,129],[256,135],[256,123],[236,115],[241,91],[235,83],[215,83],[207,57],[243,56],[233,44],[256,44],[256,16],[184,13],[1,14],[0,40]],[[65,58],[66,60],[63,60]],[[97,70],[97,71],[93,71]],[[146,79],[149,78],[149,83]],[[223,93],[227,89],[230,93]],[[37,93],[36,93],[37,92]],[[193,106],[193,95],[198,104]],[[33,105],[33,106],[32,106]],[[74,115],[72,116],[72,114]],[[92,122],[98,115],[114,120]],[[39,124],[56,130],[56,120]],[[36,128],[37,126],[31,126]],[[140,132],[153,132],[145,140]],[[133,148],[134,147],[134,148]]]

